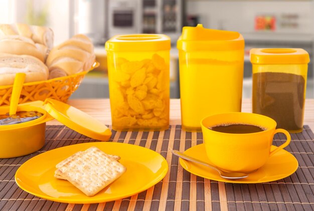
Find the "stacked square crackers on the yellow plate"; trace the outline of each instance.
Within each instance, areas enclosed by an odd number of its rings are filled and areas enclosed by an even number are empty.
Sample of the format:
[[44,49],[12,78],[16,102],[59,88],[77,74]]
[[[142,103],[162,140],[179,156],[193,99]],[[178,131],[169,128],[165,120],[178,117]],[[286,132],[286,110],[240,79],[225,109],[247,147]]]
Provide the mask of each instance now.
[[93,146],[58,163],[55,177],[66,179],[87,196],[93,196],[126,171],[119,159]]

